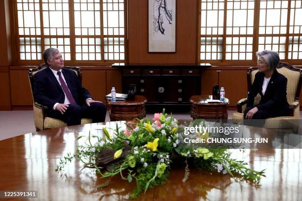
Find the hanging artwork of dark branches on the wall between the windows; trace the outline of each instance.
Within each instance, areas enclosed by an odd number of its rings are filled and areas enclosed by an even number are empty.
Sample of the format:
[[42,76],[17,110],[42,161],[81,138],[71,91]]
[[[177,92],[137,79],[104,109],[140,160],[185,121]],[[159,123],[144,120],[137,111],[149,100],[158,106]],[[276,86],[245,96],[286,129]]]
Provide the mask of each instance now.
[[148,0],[148,52],[176,52],[176,0]]

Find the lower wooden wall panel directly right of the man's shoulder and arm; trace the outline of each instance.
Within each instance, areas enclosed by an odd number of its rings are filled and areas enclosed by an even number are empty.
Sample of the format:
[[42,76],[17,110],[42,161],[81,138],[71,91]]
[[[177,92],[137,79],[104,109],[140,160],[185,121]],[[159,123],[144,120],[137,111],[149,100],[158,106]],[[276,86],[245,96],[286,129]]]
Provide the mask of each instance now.
[[82,85],[94,100],[105,102],[106,94],[106,70],[84,70],[82,69]]

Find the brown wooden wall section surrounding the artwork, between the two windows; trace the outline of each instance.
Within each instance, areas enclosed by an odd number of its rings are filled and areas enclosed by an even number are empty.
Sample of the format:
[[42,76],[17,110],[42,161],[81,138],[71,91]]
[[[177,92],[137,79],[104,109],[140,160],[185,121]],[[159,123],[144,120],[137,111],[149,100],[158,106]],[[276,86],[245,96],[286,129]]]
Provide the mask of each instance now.
[[176,53],[148,53],[148,0],[128,1],[130,64],[195,64],[197,0],[177,0]]

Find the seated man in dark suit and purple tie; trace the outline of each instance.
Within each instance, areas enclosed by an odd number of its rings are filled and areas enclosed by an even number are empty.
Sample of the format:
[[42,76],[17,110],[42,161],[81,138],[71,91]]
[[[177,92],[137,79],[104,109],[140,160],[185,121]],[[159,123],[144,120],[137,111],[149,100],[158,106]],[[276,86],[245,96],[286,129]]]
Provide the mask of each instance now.
[[38,103],[48,106],[46,115],[60,119],[68,126],[79,125],[81,118],[104,122],[106,106],[92,100],[73,70],[63,69],[64,61],[58,49],[43,52],[48,67],[34,75],[34,96]]

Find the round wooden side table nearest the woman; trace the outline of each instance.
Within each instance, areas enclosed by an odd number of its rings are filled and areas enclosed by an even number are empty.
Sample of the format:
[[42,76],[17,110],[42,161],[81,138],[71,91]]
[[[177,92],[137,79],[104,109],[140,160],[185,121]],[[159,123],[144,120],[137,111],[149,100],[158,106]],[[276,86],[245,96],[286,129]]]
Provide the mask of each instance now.
[[208,102],[212,96],[199,95],[190,98],[193,119],[227,119],[227,105],[229,101],[225,98],[224,102]]

